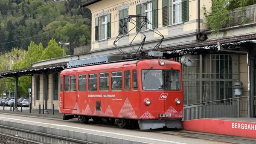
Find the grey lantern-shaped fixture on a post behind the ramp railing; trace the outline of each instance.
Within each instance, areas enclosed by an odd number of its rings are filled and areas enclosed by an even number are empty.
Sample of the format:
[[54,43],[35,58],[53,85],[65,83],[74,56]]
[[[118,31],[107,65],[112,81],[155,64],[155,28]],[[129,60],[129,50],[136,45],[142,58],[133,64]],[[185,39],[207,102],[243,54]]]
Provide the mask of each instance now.
[[239,97],[243,94],[243,83],[241,81],[235,81],[233,86],[233,95],[237,97],[237,117],[240,117],[240,103]]

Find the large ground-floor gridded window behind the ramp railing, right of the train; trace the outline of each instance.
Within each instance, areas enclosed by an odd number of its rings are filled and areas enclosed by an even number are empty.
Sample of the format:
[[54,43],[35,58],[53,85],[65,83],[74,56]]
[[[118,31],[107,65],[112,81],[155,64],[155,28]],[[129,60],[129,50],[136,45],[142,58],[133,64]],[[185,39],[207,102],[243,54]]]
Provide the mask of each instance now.
[[[239,79],[238,55],[194,55],[193,66],[183,66],[184,104],[198,104],[233,97]],[[200,63],[201,61],[201,63]]]

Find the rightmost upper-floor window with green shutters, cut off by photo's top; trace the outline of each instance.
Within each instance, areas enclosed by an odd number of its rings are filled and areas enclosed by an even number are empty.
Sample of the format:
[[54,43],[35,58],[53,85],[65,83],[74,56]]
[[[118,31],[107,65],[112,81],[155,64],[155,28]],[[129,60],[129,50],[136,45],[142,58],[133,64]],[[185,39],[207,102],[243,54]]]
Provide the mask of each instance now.
[[163,26],[189,21],[188,0],[162,0]]

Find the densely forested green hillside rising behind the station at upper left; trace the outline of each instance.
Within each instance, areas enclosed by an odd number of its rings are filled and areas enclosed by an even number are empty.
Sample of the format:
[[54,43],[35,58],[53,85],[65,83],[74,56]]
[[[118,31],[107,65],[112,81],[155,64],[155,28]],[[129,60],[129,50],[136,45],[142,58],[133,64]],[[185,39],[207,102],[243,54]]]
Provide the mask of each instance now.
[[[0,0],[0,52],[13,47],[28,50],[30,42],[43,47],[53,38],[73,47],[90,44],[90,10],[85,0]],[[84,13],[85,12],[85,13]]]

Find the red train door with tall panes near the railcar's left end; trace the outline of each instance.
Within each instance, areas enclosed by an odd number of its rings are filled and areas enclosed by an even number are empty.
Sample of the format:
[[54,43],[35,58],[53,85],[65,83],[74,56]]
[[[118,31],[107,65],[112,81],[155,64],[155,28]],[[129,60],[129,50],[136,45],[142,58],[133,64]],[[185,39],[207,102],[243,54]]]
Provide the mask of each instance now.
[[76,75],[64,75],[64,109],[76,109]]

